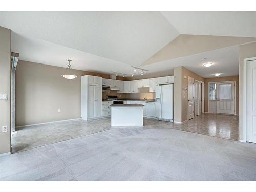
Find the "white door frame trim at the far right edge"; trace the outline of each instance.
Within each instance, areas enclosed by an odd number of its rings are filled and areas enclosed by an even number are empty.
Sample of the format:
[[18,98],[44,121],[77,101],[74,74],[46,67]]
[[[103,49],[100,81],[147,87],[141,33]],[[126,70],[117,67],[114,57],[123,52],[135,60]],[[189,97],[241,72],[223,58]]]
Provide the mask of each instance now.
[[[241,142],[246,142],[247,141],[247,130],[246,130],[246,114],[247,114],[247,111],[246,111],[246,105],[247,105],[247,89],[246,89],[246,86],[247,86],[247,62],[248,61],[252,61],[252,60],[256,60],[256,57],[250,57],[250,58],[245,58],[244,59],[244,77],[243,77],[243,139],[239,139],[239,141]],[[240,118],[239,118],[240,119]],[[238,120],[239,120],[238,119]],[[238,126],[238,131],[240,132],[241,130],[241,127]]]

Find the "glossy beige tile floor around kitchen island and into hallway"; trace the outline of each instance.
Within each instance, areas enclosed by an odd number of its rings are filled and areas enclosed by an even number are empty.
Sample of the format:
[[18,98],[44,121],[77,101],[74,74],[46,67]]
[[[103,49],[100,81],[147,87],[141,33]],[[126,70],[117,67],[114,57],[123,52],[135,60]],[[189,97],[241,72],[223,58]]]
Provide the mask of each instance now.
[[[171,128],[225,139],[238,140],[238,116],[202,114],[183,124],[144,119],[145,129]],[[137,127],[139,128],[139,127]],[[72,120],[23,127],[12,137],[12,152],[72,139],[111,129],[110,118]]]

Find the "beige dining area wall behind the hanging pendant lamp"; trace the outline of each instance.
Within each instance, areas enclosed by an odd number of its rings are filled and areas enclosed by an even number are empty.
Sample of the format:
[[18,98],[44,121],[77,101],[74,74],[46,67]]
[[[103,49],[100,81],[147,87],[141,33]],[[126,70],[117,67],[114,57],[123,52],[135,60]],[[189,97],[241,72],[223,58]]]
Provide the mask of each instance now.
[[74,71],[78,77],[68,80],[61,76],[65,68],[19,60],[16,69],[16,126],[80,118],[80,76],[110,76]]

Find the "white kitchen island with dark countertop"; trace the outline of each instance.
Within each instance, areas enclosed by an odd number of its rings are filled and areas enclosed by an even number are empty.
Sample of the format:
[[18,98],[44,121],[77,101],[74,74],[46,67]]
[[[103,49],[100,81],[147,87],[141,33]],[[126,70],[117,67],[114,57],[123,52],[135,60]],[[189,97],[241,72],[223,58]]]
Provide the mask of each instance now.
[[143,104],[111,104],[111,126],[143,126]]

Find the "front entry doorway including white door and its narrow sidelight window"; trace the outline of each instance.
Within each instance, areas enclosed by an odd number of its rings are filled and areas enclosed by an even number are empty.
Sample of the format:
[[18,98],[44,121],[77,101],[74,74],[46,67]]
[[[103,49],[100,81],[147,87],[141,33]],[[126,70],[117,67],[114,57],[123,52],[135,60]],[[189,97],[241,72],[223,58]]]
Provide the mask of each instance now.
[[209,82],[208,110],[209,113],[234,115],[236,105],[236,82]]

